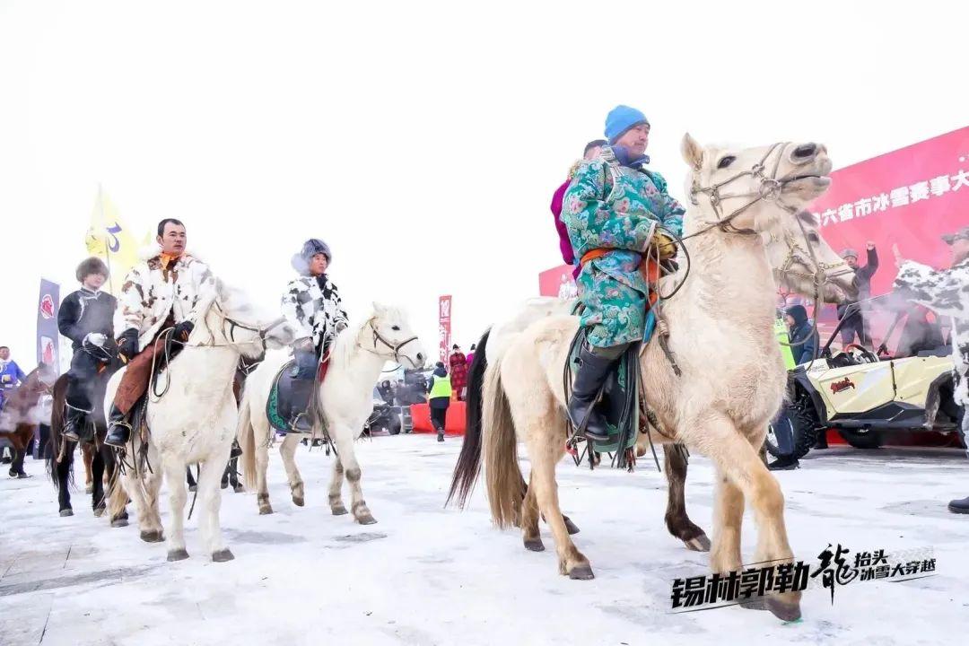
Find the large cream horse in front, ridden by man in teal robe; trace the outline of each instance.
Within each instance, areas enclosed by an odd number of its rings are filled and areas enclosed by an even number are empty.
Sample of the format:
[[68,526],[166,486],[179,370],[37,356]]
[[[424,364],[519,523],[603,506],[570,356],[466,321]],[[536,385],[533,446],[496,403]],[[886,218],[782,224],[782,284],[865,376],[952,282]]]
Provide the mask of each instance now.
[[[831,164],[824,146],[816,144],[704,149],[686,136],[682,152],[691,168],[693,203],[684,239],[692,268],[687,275],[687,263],[681,262],[661,286],[670,292],[673,284],[682,283],[664,308],[669,346],[681,375],[658,344],[649,344],[641,354],[647,404],[659,418],[665,442],[684,444],[714,462],[712,569],[741,569],[745,500],[759,525],[753,561],[791,562],[783,494],[758,456],[787,377],[773,334],[777,283],[764,236],[780,234],[785,219],[797,217],[827,191]],[[495,523],[520,523],[529,533],[541,512],[554,536],[560,572],[592,578],[588,560],[562,520],[555,484],[566,440],[562,371],[577,331],[576,317],[547,317],[531,324],[488,366],[481,451]],[[517,439],[527,446],[532,465],[523,501]],[[799,593],[766,603],[784,619],[800,614]]]

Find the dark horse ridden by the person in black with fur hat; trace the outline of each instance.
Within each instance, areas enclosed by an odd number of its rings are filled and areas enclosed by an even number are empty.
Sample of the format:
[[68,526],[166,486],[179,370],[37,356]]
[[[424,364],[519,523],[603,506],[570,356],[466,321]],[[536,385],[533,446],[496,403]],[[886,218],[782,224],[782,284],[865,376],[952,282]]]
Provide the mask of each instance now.
[[[108,483],[117,474],[117,462],[114,451],[110,446],[104,444],[105,436],[108,433],[108,425],[105,421],[104,407],[101,405],[105,399],[105,389],[108,380],[117,371],[116,364],[109,365],[99,374],[92,385],[93,396],[91,401],[94,403],[93,412],[86,423],[94,424],[94,442],[79,443],[82,446],[86,462],[88,452],[91,455],[91,508],[95,516],[104,514],[106,507],[105,501],[105,475],[108,476]],[[50,415],[50,450],[47,457],[47,474],[53,482],[54,489],[57,490],[57,502],[62,516],[73,516],[74,509],[71,507],[71,485],[73,484],[74,449],[78,446],[77,442],[70,442],[64,439],[65,411],[67,410],[67,375],[61,375],[53,387],[53,411]],[[128,513],[126,509],[121,509],[111,517],[111,527],[124,527],[128,524]]]

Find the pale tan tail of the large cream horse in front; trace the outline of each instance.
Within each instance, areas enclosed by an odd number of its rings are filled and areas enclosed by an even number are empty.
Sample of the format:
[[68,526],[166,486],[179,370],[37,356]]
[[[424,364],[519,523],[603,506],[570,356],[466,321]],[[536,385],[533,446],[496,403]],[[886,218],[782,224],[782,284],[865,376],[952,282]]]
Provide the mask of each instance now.
[[[475,354],[478,358],[478,354]],[[521,469],[515,420],[501,380],[501,359],[485,372],[482,425],[484,439],[485,482],[491,519],[499,528],[518,524],[521,511]]]

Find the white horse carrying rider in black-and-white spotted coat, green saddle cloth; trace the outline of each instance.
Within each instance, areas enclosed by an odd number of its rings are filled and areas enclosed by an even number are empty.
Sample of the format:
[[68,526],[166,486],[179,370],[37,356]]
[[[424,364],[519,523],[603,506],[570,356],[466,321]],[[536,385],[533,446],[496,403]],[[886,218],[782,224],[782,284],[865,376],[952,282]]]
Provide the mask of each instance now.
[[[354,453],[354,441],[363,432],[363,423],[373,412],[373,387],[387,361],[406,361],[412,368],[421,368],[427,357],[417,335],[411,331],[404,313],[395,307],[374,303],[373,315],[352,325],[333,342],[327,377],[319,387],[319,406],[322,419],[314,417],[311,437],[322,436],[326,425],[336,450],[333,477],[329,484],[329,508],[333,515],[347,512],[341,491],[343,475],[350,481],[351,509],[361,525],[377,522],[363,500],[360,489],[360,468]],[[266,400],[287,355],[267,356],[246,379],[239,410],[238,441],[242,447],[243,473],[248,489],[258,493],[256,502],[261,514],[272,513],[266,469],[269,464],[269,445],[273,429],[266,418]],[[300,434],[290,433],[283,440],[279,453],[286,466],[293,503],[304,504],[303,480],[296,464],[296,450]]]

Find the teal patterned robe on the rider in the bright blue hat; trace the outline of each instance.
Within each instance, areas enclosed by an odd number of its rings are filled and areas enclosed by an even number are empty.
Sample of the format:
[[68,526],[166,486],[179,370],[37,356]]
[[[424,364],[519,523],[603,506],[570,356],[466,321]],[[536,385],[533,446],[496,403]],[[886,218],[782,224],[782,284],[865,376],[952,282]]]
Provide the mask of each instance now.
[[641,255],[657,224],[680,235],[683,213],[662,175],[620,166],[609,147],[579,165],[563,200],[562,222],[576,258],[609,250],[587,262],[576,280],[591,346],[641,340],[649,292],[639,271]]

